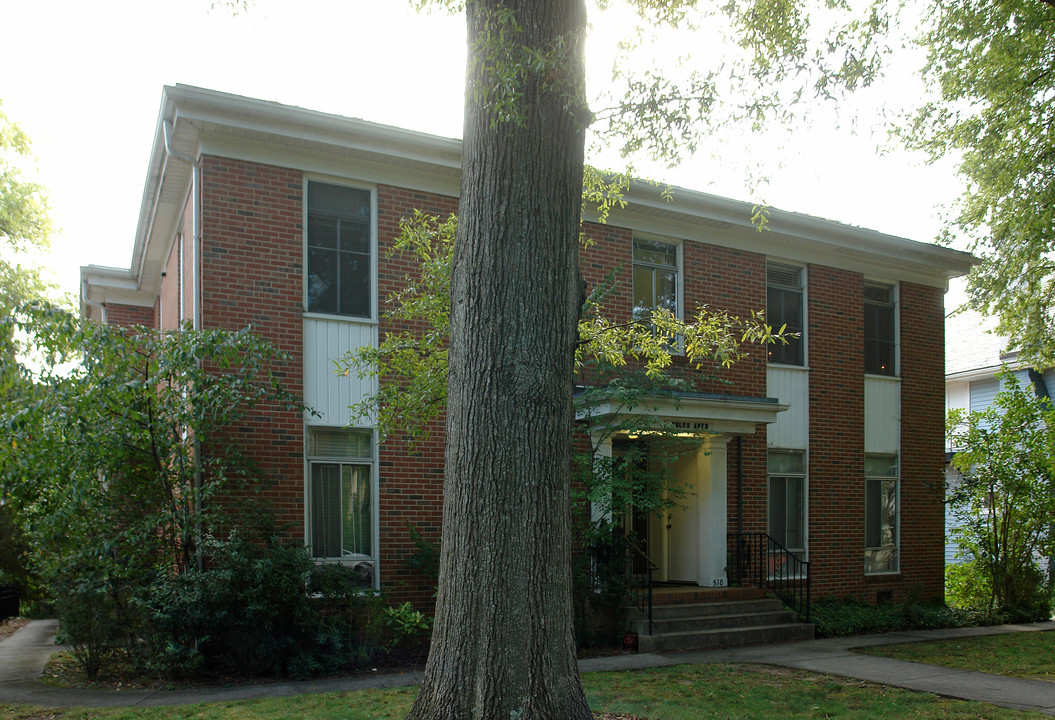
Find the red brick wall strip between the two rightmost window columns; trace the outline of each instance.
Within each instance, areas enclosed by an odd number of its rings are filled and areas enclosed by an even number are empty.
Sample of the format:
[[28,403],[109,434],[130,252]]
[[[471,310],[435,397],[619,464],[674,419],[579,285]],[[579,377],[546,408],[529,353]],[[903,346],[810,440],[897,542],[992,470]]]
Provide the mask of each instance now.
[[807,270],[809,560],[818,595],[864,576],[864,299],[857,272]]

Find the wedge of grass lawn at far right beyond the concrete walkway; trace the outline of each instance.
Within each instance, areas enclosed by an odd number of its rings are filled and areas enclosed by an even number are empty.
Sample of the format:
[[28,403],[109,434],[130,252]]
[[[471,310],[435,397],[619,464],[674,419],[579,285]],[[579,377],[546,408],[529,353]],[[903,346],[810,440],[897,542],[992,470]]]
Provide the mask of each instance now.
[[956,638],[859,648],[858,652],[962,670],[1055,682],[1055,631]]

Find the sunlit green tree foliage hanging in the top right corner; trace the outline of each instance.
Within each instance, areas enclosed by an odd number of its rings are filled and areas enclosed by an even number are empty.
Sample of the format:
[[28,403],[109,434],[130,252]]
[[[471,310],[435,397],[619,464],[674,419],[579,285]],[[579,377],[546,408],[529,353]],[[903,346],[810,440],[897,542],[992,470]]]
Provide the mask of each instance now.
[[946,230],[982,259],[971,304],[1038,366],[1055,364],[1055,6],[1040,0],[928,3],[922,77],[936,99],[903,129],[933,158],[961,157],[964,193]]

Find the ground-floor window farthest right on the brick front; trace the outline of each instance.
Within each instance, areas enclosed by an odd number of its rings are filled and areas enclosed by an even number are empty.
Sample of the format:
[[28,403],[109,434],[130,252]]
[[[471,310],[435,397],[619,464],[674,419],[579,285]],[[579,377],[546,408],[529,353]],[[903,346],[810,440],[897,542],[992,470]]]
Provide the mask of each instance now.
[[898,456],[864,456],[864,571],[898,572]]

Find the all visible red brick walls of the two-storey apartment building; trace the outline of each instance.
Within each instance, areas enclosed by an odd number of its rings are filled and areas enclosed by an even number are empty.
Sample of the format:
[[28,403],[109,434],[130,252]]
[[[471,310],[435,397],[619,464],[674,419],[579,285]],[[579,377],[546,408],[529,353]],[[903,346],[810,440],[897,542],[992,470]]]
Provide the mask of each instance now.
[[[239,328],[253,324],[294,358],[303,353],[303,176],[300,172],[206,156],[203,158],[203,320],[206,327]],[[445,216],[457,209],[454,197],[390,186],[377,189],[378,289],[385,299],[402,287],[414,263],[391,255],[399,222],[415,208]],[[187,230],[189,243],[190,228]],[[606,301],[615,319],[629,318],[632,282],[632,233],[610,225],[587,224],[593,245],[581,253],[590,286],[612,268],[621,268],[618,286]],[[187,246],[189,248],[189,245]],[[684,244],[684,307],[697,304],[736,315],[765,307],[765,258],[698,243]],[[189,249],[185,267],[189,267]],[[186,279],[189,281],[189,278]],[[862,277],[822,266],[808,268],[808,348],[810,365],[809,535],[814,591],[856,594],[875,600],[876,592],[901,593],[908,586],[924,593],[940,591],[942,505],[928,495],[940,482],[942,444],[941,293],[902,285],[901,358],[904,402],[902,440],[901,575],[865,579],[864,543],[864,408]],[[189,296],[189,287],[187,289]],[[115,306],[112,322],[136,317],[152,322],[151,308]],[[124,315],[121,315],[124,312]],[[382,337],[395,329],[380,326]],[[722,377],[706,379],[679,362],[679,371],[708,392],[766,395],[765,353],[750,352]],[[299,362],[284,368],[287,386],[301,393]],[[926,408],[919,399],[929,398]],[[431,542],[439,538],[442,512],[442,418],[428,442],[408,447],[389,437],[381,447],[379,472],[379,574],[395,600],[421,606],[431,602],[431,581],[407,573],[414,551],[407,524]],[[910,432],[907,432],[910,431]],[[244,437],[274,485],[268,491],[282,519],[303,534],[303,422],[298,414],[263,412],[245,428]],[[766,433],[760,428],[744,438],[744,527],[766,527]],[[729,527],[735,529],[736,441],[729,443]],[[932,477],[934,476],[934,477]],[[937,486],[935,486],[937,487]]]

